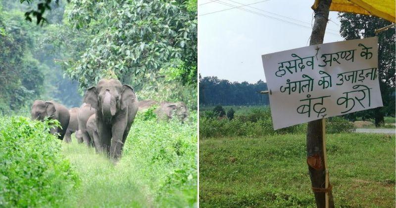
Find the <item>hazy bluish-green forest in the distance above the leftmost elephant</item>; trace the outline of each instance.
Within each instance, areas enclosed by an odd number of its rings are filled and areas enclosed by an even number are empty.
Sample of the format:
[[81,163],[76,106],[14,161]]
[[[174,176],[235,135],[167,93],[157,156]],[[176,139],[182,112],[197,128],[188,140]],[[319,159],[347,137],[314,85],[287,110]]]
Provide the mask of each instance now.
[[65,53],[47,41],[62,25],[65,5],[53,3],[48,23],[40,27],[25,20],[26,4],[0,0],[0,112],[25,111],[35,99],[79,106],[78,83],[63,77],[54,61]]

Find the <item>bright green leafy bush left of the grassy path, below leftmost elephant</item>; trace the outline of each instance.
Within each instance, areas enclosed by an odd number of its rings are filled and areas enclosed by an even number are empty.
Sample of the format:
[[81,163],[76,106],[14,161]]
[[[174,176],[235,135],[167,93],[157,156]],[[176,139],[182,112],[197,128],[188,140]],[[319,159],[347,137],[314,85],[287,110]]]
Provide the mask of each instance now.
[[78,178],[49,121],[0,118],[0,207],[59,207]]

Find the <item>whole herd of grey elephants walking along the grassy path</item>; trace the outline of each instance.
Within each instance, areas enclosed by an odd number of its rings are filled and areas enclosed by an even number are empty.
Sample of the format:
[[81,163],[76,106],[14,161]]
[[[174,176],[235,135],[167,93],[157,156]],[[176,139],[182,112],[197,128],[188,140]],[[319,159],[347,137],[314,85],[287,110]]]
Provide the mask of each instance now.
[[161,119],[177,116],[183,121],[188,116],[187,106],[182,102],[139,102],[133,88],[117,79],[102,79],[97,86],[88,88],[80,107],[67,109],[53,101],[36,100],[31,116],[36,120],[46,117],[58,120],[60,127],[51,128],[50,133],[57,133],[58,138],[67,143],[75,133],[78,143],[118,158],[138,110],[153,105],[159,105],[154,113]]

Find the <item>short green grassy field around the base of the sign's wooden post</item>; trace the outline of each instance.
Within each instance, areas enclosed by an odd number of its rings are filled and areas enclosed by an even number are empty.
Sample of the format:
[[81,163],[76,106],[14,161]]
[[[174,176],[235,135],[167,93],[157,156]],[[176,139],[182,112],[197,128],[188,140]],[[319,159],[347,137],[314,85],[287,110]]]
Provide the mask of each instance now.
[[[336,207],[395,207],[395,136],[328,134]],[[316,207],[305,135],[199,141],[200,207]]]

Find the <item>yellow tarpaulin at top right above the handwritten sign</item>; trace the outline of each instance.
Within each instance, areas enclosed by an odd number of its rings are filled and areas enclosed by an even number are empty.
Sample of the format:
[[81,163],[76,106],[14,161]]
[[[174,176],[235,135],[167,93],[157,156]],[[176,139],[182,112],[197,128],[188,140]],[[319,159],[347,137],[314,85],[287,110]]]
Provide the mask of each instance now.
[[[312,8],[316,9],[319,0]],[[330,11],[374,15],[395,22],[395,0],[332,0]]]

